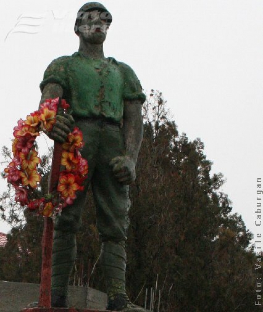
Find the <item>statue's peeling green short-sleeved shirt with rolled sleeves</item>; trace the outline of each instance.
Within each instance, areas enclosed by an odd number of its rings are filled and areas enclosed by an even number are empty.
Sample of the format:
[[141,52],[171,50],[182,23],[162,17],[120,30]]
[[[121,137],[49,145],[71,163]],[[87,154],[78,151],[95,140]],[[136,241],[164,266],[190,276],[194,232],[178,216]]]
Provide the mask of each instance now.
[[141,84],[130,66],[109,57],[93,60],[80,52],[61,56],[47,67],[40,84],[41,91],[48,83],[63,88],[63,98],[76,117],[105,117],[120,123],[124,100],[146,99]]

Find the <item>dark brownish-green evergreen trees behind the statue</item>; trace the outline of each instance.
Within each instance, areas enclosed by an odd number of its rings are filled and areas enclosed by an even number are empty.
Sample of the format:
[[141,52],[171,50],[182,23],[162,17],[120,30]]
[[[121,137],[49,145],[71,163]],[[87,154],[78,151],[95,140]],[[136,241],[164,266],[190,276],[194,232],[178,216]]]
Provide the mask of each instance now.
[[[160,311],[260,311],[254,302],[262,269],[255,271],[252,234],[241,216],[231,214],[231,202],[221,192],[223,175],[211,175],[212,163],[200,139],[189,141],[186,134],[178,135],[161,92],[152,90],[143,114],[137,178],[130,188],[129,295],[144,305],[147,288],[149,307],[153,288],[155,311],[159,290]],[[8,156],[8,150],[4,152]],[[46,193],[48,158],[43,165]],[[20,207],[12,197],[7,205],[9,195],[10,190],[0,198],[3,217],[11,205],[9,221],[19,222]],[[43,220],[27,212],[24,218],[26,222],[12,229],[0,252],[0,278],[39,282]],[[91,193],[82,222],[71,283],[103,289]]]

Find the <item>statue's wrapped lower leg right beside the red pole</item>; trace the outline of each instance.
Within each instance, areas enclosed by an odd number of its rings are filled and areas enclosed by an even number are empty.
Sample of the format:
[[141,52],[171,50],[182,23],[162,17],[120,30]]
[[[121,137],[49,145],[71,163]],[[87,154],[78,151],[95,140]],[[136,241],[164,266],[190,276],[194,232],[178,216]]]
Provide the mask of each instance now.
[[52,251],[52,307],[67,308],[68,284],[75,259],[76,234],[55,230]]

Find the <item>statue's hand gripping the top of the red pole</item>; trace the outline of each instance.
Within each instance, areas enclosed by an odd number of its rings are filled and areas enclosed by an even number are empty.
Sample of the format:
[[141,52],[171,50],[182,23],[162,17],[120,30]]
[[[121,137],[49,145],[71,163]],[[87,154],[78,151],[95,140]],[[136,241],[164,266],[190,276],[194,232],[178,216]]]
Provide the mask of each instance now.
[[52,130],[45,133],[50,139],[58,143],[64,143],[67,135],[72,131],[74,122],[74,118],[69,114],[57,115]]

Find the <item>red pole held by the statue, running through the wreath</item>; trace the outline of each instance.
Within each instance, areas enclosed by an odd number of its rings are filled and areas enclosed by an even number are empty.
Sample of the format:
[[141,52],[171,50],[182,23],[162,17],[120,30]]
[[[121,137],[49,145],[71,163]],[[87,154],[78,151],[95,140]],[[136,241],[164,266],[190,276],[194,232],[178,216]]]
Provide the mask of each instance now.
[[[57,188],[60,172],[61,154],[62,154],[62,144],[55,142],[48,187],[49,193],[51,193]],[[45,217],[44,230],[42,236],[41,282],[38,301],[38,307],[44,308],[51,307],[51,267],[52,267],[53,230],[54,230],[53,220],[50,217]]]

